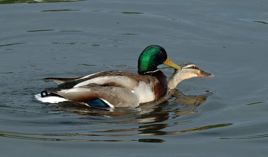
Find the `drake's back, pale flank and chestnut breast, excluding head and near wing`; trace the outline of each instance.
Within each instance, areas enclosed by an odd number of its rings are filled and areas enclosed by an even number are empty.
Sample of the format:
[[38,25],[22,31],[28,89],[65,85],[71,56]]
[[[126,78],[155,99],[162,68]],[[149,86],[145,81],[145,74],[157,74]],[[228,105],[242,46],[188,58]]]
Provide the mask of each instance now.
[[[61,78],[46,78],[57,81],[57,88],[70,89],[73,87],[82,87],[90,84],[98,84],[99,86],[121,87],[131,90],[139,97],[140,103],[154,101],[166,95],[167,81],[166,76],[157,70],[155,72],[139,75],[137,73],[114,70],[102,71],[85,77],[76,77],[73,80],[64,82]],[[72,81],[70,81],[72,80]]]

